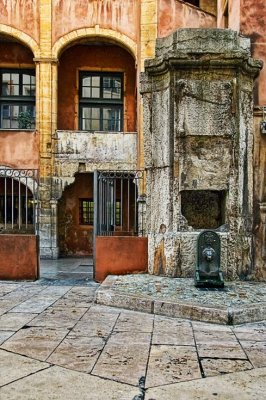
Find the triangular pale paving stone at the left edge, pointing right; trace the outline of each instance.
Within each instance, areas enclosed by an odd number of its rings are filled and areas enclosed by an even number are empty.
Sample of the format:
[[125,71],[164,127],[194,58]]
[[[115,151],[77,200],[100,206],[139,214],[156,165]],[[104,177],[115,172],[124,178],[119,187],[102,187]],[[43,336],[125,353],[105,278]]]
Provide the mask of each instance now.
[[[0,350],[0,386],[49,367],[49,364]],[[2,391],[2,389],[0,389]],[[1,397],[1,394],[0,394]],[[2,397],[1,397],[2,398]],[[4,398],[3,398],[4,399]]]

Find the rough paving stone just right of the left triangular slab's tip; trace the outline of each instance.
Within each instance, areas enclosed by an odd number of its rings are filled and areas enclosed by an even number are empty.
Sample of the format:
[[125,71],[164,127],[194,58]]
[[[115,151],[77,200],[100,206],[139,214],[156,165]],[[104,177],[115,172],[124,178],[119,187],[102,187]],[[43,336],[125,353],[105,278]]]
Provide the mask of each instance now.
[[91,372],[104,345],[105,340],[101,337],[69,335],[47,361],[76,371]]

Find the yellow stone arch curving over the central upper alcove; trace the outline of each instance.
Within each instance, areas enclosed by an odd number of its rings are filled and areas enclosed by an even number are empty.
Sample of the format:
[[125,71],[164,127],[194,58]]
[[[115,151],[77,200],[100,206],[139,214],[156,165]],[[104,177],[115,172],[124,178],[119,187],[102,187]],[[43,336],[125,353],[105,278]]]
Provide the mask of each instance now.
[[60,54],[65,48],[67,48],[73,42],[76,42],[83,38],[107,39],[114,44],[119,44],[121,47],[126,49],[134,57],[135,60],[137,59],[137,45],[134,40],[124,35],[123,33],[114,31],[112,29],[100,28],[98,25],[96,25],[96,27],[94,28],[77,29],[62,36],[53,45],[52,58],[59,58]]

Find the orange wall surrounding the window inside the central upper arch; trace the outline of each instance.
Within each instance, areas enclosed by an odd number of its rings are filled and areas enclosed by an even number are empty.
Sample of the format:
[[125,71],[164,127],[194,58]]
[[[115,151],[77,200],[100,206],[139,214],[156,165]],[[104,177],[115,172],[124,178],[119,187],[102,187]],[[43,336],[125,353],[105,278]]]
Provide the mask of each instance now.
[[58,129],[78,129],[79,70],[124,72],[124,128],[136,131],[136,70],[133,57],[118,46],[76,45],[60,58],[58,71]]

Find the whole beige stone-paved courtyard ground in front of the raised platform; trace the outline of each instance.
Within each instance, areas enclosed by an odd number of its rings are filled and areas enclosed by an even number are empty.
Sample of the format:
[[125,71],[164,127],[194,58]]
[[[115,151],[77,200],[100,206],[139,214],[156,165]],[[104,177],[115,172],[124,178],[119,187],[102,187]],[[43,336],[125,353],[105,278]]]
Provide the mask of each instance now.
[[98,287],[0,282],[1,400],[265,398],[266,322],[100,306]]

